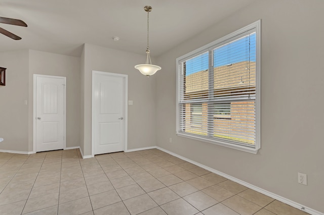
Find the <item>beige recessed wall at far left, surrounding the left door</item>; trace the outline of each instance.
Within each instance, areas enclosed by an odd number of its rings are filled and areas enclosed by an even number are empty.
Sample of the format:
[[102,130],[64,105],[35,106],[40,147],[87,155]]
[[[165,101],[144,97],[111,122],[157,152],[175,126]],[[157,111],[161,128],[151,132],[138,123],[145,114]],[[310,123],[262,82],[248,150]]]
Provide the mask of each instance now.
[[8,68],[0,87],[0,150],[33,151],[33,74],[66,77],[66,147],[79,146],[80,59],[22,50],[0,53],[0,65]]

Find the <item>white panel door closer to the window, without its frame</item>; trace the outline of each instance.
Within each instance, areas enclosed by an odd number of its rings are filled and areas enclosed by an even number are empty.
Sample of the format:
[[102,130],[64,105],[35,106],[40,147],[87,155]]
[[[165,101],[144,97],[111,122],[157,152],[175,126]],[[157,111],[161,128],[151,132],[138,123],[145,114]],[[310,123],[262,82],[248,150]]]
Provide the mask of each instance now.
[[93,154],[125,150],[127,76],[93,71]]

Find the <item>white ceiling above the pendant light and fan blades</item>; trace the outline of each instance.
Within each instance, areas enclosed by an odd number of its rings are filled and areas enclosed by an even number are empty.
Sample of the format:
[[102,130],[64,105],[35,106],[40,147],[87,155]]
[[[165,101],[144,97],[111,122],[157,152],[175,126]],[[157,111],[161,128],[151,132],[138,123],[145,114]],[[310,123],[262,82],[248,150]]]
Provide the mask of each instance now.
[[[82,44],[145,54],[147,13],[152,56],[159,56],[255,0],[0,0],[0,16],[27,28],[0,23],[22,37],[0,34],[0,51],[34,49],[80,56]],[[112,37],[120,37],[113,41]]]

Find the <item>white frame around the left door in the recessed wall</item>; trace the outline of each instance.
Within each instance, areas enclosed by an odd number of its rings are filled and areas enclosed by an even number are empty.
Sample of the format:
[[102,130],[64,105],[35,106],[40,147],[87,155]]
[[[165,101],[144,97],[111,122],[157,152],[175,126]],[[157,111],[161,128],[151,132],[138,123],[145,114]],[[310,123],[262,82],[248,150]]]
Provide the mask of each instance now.
[[39,75],[33,74],[33,147],[32,152],[36,153],[36,78],[59,78],[64,80],[64,90],[63,90],[63,149],[66,149],[66,77],[63,76],[53,76],[53,75]]

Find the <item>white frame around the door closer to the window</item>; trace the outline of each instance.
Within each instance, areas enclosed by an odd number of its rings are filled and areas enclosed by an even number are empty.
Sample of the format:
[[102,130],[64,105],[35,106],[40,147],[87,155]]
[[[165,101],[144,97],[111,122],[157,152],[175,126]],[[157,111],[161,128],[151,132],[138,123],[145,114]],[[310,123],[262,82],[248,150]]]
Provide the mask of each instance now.
[[128,133],[128,75],[125,74],[118,74],[118,73],[109,73],[109,72],[101,72],[101,71],[92,71],[92,93],[91,93],[91,97],[92,97],[92,106],[91,106],[91,155],[92,157],[95,156],[95,134],[94,134],[94,126],[95,126],[95,120],[94,120],[94,116],[95,116],[95,75],[106,75],[106,76],[114,76],[114,77],[122,77],[124,80],[124,85],[125,85],[125,101],[124,101],[124,107],[125,107],[125,113],[124,113],[124,140],[125,140],[125,145],[124,145],[124,151],[127,151],[127,133]]

